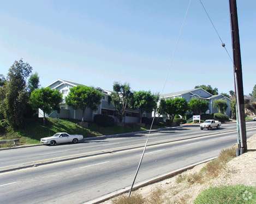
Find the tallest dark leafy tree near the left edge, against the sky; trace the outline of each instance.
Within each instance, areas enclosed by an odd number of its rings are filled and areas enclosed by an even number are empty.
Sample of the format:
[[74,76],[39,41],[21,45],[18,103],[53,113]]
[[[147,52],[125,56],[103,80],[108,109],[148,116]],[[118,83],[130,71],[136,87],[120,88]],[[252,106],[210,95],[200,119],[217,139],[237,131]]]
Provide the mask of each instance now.
[[26,79],[31,71],[32,67],[20,59],[11,65],[7,75],[4,116],[9,124],[15,128],[20,127],[23,123],[23,113],[28,102]]

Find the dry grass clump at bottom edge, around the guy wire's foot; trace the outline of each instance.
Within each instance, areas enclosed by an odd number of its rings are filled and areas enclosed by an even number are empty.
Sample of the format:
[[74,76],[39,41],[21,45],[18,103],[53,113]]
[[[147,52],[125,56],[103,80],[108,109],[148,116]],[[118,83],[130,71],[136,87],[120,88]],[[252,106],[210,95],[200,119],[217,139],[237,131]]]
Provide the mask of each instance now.
[[112,200],[113,204],[144,204],[146,199],[141,194],[133,193],[130,197],[128,194],[118,196]]

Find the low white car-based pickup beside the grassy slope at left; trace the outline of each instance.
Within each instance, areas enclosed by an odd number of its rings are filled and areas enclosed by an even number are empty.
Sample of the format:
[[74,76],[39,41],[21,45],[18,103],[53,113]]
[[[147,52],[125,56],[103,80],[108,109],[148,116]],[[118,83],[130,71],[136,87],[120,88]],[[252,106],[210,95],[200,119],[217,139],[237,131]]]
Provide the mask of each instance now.
[[40,142],[47,145],[56,145],[59,143],[78,143],[79,140],[82,140],[84,137],[80,134],[68,134],[66,132],[59,132],[52,137],[41,138]]

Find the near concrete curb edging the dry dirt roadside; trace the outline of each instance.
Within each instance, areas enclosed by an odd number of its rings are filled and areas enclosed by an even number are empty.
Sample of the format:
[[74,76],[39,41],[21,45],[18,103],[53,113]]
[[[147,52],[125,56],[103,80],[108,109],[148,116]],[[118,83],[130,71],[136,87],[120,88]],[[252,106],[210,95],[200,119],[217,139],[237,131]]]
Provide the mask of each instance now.
[[[136,190],[136,189],[139,189],[139,188],[141,188],[141,187],[145,187],[145,186],[148,186],[148,185],[150,185],[150,184],[157,183],[157,182],[163,181],[163,180],[165,180],[165,179],[167,179],[167,178],[176,176],[177,174],[181,174],[182,172],[187,171],[188,169],[194,168],[194,166],[197,166],[197,165],[199,165],[199,164],[203,164],[203,163],[209,162],[210,160],[216,159],[216,158],[217,158],[217,157],[211,157],[211,158],[205,159],[205,160],[203,160],[203,161],[201,161],[201,162],[197,162],[197,163],[194,163],[194,164],[190,164],[190,165],[188,165],[188,166],[185,166],[184,168],[171,171],[171,172],[169,172],[169,173],[167,173],[167,174],[159,175],[159,176],[150,178],[149,180],[136,183],[136,184],[134,185],[134,187],[133,187],[133,190]],[[101,197],[98,197],[97,199],[84,202],[84,204],[97,204],[97,203],[102,203],[102,202],[107,201],[107,200],[110,200],[110,199],[112,199],[113,197],[116,197],[116,196],[118,196],[118,195],[121,195],[121,194],[124,194],[124,193],[128,193],[129,190],[130,190],[130,186],[128,186],[128,187],[126,187],[126,188],[123,188],[123,189],[120,189],[120,190],[116,190],[116,191],[114,191],[114,192],[112,192],[112,193],[110,193],[110,194],[103,195],[103,196],[101,196]]]

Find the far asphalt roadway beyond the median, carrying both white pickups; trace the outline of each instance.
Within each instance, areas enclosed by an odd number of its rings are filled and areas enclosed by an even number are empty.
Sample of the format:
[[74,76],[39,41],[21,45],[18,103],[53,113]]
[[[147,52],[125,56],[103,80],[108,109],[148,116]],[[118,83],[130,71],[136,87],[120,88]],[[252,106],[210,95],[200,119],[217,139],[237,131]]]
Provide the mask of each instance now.
[[[256,127],[256,122],[247,122],[247,128]],[[201,131],[199,127],[181,126],[168,131],[159,131],[150,134],[149,144],[168,139],[180,139],[184,137],[194,137],[207,133],[227,132],[236,130],[235,123],[223,124],[221,129],[212,131]],[[116,147],[130,145],[144,145],[147,134],[130,134],[118,138],[91,139],[79,144],[62,144],[56,146],[35,146],[22,149],[0,151],[0,170],[6,166],[34,162],[43,159],[69,156],[92,151],[104,151]]]

